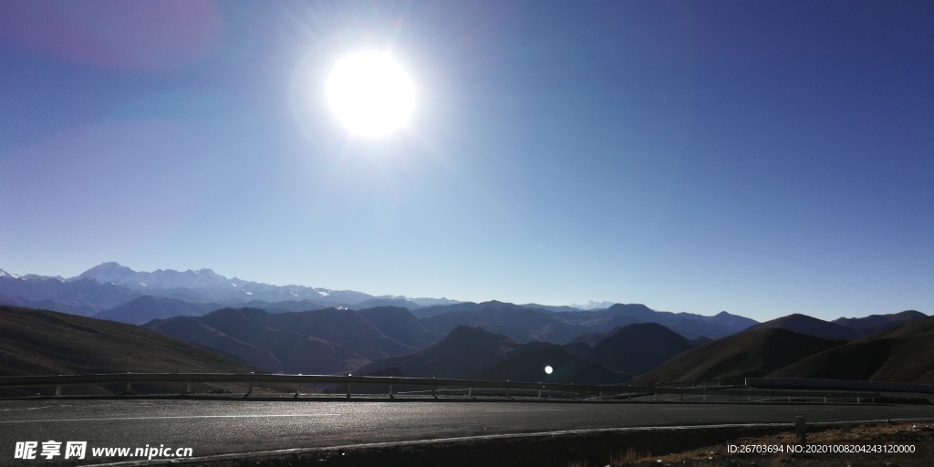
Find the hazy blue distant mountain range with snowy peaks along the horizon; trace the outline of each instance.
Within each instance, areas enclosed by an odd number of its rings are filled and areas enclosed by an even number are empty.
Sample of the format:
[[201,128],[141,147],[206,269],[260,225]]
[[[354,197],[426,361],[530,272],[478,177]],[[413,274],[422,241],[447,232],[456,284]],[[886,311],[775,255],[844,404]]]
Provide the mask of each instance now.
[[[481,326],[518,342],[566,344],[585,333],[606,333],[618,326],[656,322],[689,339],[715,339],[737,333],[756,321],[721,312],[713,317],[655,311],[644,304],[587,303],[590,309],[540,304],[481,304],[403,296],[373,296],[352,290],[273,286],[210,269],[137,272],[117,262],[94,266],[79,276],[15,276],[0,273],[0,304],[50,309],[131,324],[179,316],[197,317],[224,307],[249,307],[269,313],[325,308],[363,310],[395,306],[411,310],[424,326],[445,334],[457,326]],[[603,307],[605,305],[605,307]]]

